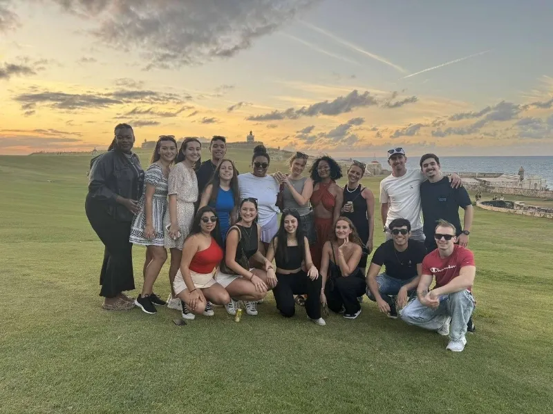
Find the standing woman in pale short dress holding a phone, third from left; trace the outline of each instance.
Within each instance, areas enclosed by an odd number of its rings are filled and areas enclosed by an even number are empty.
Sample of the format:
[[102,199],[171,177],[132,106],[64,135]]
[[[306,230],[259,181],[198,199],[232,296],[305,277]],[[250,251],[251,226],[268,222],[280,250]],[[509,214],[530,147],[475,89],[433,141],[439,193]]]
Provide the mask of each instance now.
[[163,219],[165,231],[165,247],[171,252],[169,267],[169,283],[171,295],[167,299],[167,307],[182,310],[180,299],[176,297],[173,282],[180,267],[182,245],[190,233],[194,220],[194,203],[198,200],[198,179],[195,166],[201,164],[202,144],[197,138],[186,138],[182,141],[176,158],[176,164],[169,172],[169,208]]

